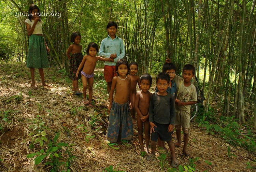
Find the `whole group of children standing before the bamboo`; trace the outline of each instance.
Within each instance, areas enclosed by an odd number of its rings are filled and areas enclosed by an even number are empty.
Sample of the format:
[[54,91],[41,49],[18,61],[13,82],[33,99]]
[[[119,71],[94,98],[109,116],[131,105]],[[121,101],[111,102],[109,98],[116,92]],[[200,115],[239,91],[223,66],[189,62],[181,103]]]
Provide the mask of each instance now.
[[[29,38],[29,51],[27,66],[31,71],[31,87],[37,89],[34,82],[34,68],[38,68],[42,85],[44,74],[42,68],[49,67],[47,54],[49,48],[43,38],[42,24],[39,8],[32,4],[29,7],[29,18],[26,19]],[[183,154],[189,156],[187,143],[189,137],[190,105],[197,102],[196,88],[191,83],[195,76],[195,68],[185,65],[182,76],[175,74],[176,67],[173,63],[166,62],[162,72],[156,77],[156,90],[152,94],[148,90],[152,85],[152,77],[149,74],[137,76],[138,64],[123,59],[125,55],[122,39],[116,36],[117,24],[110,22],[106,30],[109,35],[103,39],[99,55],[96,43],[89,43],[86,55],[82,56],[81,35],[79,32],[71,34],[71,44],[67,50],[70,60],[70,78],[73,81],[72,91],[81,94],[78,87],[78,79],[83,82],[83,103],[93,107],[93,81],[94,70],[98,60],[105,61],[104,77],[108,83],[110,112],[107,144],[113,149],[119,149],[117,141],[129,146],[133,138],[133,124],[138,124],[138,138],[141,155],[148,154],[146,159],[155,157],[157,142],[158,149],[163,149],[167,142],[171,155],[172,167],[177,167],[175,146],[181,146],[181,127],[184,133]],[[71,54],[71,56],[70,56]],[[38,58],[40,57],[40,58]],[[137,93],[137,84],[140,91]],[[46,85],[47,86],[47,85]],[[89,99],[86,98],[88,88]],[[114,93],[115,92],[115,93]],[[115,95],[115,96],[114,96]],[[137,113],[137,117],[135,115]],[[176,129],[177,142],[172,141],[173,129]],[[143,128],[145,133],[145,146],[143,144]],[[151,153],[148,153],[151,134]]]

